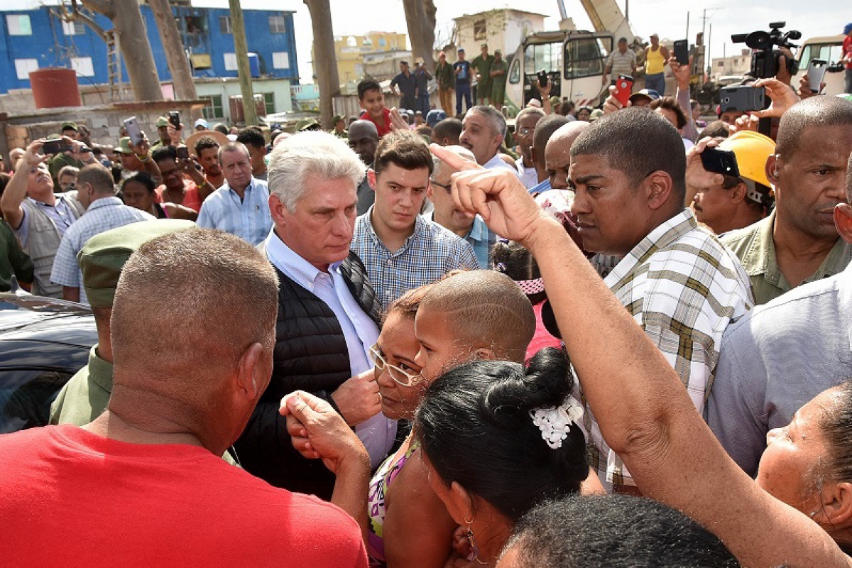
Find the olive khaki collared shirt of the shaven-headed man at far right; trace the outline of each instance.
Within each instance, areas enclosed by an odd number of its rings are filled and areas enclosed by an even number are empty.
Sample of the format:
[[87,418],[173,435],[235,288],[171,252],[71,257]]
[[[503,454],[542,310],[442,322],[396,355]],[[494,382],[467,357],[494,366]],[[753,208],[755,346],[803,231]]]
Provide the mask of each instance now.
[[[755,305],[765,304],[788,292],[792,286],[778,267],[775,255],[775,244],[772,239],[772,229],[775,222],[775,211],[753,225],[731,231],[722,236],[722,244],[734,251],[734,255],[742,262],[751,280],[751,291],[754,293]],[[846,244],[843,238],[832,247],[816,272],[802,281],[802,284],[814,282],[838,273],[852,260],[852,246]]]

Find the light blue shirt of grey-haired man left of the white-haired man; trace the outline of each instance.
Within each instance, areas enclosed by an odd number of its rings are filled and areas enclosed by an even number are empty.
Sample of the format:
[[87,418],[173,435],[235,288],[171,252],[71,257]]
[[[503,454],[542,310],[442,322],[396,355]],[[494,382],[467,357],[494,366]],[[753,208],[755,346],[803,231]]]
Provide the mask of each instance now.
[[267,182],[252,177],[245,197],[240,199],[226,181],[204,199],[197,222],[199,227],[230,232],[251,244],[260,244],[272,228]]

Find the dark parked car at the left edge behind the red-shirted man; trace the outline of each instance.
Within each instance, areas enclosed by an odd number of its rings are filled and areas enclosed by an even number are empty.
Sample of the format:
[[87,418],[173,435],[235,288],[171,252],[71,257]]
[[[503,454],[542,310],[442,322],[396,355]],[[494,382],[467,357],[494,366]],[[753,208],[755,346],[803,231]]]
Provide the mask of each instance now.
[[97,341],[89,307],[0,293],[0,433],[46,425],[56,393]]

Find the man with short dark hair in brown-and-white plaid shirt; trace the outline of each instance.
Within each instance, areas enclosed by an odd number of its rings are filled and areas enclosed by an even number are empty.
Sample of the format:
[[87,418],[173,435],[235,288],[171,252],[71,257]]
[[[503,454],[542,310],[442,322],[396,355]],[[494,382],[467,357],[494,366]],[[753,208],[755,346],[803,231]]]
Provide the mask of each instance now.
[[[722,332],[754,302],[740,261],[684,208],[680,135],[654,112],[628,108],[579,135],[571,158],[571,211],[584,249],[620,257],[604,282],[681,376],[701,412]],[[630,473],[590,411],[585,421],[591,465],[602,483],[634,492]]]

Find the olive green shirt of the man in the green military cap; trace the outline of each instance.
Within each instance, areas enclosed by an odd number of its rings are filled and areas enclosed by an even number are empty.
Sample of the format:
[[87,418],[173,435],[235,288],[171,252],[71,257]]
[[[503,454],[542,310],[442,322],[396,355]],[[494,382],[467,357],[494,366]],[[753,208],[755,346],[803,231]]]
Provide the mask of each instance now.
[[[89,364],[65,383],[50,405],[49,424],[83,426],[107,410],[112,393],[112,363],[98,357],[97,347],[89,351]],[[222,459],[238,465],[227,451]]]

